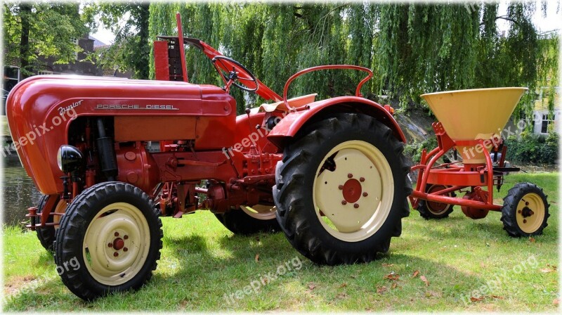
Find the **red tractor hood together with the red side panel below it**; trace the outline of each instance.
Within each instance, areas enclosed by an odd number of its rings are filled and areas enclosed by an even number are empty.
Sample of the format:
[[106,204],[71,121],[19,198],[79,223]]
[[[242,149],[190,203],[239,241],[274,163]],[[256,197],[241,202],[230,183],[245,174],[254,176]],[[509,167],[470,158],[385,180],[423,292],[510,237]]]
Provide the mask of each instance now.
[[6,115],[20,161],[44,194],[63,191],[56,155],[77,117],[115,117],[115,141],[195,140],[196,150],[230,147],[236,103],[217,86],[72,75],[16,85]]

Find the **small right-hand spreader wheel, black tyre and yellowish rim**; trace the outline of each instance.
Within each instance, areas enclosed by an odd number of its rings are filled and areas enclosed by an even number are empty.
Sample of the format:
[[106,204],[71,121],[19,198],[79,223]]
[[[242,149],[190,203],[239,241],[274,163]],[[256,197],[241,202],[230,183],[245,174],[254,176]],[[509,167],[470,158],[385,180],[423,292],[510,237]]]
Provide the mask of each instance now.
[[548,225],[549,207],[542,188],[530,183],[516,184],[504,198],[504,230],[513,237],[542,234]]

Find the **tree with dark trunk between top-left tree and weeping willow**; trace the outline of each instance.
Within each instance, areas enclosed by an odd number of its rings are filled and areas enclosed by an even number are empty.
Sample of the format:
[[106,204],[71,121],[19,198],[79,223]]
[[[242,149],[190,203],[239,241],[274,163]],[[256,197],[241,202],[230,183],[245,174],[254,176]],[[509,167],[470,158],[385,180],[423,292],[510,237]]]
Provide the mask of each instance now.
[[[148,79],[150,46],[148,37],[149,4],[147,1],[93,2],[84,6],[84,15],[96,30],[100,23],[115,34],[115,43],[104,51],[98,64],[116,64],[132,70],[136,79]],[[124,20],[123,25],[120,22]]]

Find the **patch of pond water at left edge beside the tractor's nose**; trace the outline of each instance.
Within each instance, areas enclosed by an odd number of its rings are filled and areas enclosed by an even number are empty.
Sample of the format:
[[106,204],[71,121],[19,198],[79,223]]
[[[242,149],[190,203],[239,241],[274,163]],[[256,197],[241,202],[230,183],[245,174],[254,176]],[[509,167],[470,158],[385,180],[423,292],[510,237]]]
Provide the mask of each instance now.
[[32,179],[25,173],[17,155],[1,158],[4,162],[2,176],[2,193],[4,196],[4,224],[20,225],[25,217],[27,208],[37,205],[41,193],[35,188]]

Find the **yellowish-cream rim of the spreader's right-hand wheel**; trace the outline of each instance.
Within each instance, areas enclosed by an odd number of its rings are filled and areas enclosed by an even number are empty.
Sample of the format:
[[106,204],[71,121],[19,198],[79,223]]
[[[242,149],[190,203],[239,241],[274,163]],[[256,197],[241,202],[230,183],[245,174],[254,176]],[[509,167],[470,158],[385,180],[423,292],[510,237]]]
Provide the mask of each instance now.
[[517,225],[525,233],[535,233],[544,221],[544,203],[540,195],[528,193],[517,204]]

